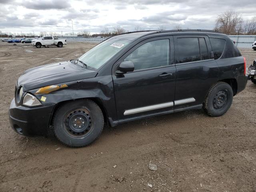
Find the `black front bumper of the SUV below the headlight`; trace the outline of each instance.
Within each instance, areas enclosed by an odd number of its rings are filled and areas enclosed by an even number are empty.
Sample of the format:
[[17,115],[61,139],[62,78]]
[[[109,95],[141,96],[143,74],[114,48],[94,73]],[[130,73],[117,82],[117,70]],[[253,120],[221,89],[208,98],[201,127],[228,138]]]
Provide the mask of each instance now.
[[45,135],[50,123],[54,104],[36,107],[16,106],[13,99],[9,108],[9,120],[12,128],[25,136]]

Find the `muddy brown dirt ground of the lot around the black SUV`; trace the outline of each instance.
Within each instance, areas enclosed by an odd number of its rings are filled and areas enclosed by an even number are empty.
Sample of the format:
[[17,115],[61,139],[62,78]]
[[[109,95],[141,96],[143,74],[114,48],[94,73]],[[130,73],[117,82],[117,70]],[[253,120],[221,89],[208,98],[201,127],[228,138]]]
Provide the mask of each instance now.
[[[213,118],[203,110],[191,110],[129,122],[105,128],[96,142],[84,148],[63,146],[52,135],[16,134],[8,108],[22,72],[76,58],[94,45],[38,49],[0,42],[0,192],[256,191],[256,84],[252,82],[234,97],[224,116]],[[241,53],[248,68],[256,51]],[[156,164],[157,171],[149,170],[149,163]]]

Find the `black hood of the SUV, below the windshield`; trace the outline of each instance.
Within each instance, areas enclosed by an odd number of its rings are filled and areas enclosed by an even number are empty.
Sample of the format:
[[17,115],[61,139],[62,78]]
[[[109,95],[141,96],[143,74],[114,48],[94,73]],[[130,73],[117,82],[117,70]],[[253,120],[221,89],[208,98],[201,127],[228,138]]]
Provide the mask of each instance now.
[[43,65],[26,70],[17,81],[24,91],[48,85],[93,78],[96,71],[82,68],[70,61]]

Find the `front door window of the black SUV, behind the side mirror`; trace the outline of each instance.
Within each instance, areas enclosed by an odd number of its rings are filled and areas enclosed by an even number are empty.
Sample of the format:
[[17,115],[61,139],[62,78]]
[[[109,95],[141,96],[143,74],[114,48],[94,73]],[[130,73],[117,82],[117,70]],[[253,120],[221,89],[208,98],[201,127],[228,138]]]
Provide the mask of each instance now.
[[147,42],[134,50],[124,60],[134,63],[134,70],[148,69],[169,65],[169,39]]

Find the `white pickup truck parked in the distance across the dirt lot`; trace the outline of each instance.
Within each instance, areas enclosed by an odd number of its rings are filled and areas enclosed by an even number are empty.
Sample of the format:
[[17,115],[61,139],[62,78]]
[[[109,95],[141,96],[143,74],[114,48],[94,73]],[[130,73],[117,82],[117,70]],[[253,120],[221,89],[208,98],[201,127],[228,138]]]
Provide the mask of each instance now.
[[50,45],[62,47],[64,44],[67,44],[67,41],[66,39],[54,38],[53,36],[44,36],[38,39],[33,39],[31,44],[36,46],[36,48],[41,48],[41,46],[48,47]]

